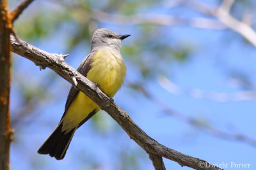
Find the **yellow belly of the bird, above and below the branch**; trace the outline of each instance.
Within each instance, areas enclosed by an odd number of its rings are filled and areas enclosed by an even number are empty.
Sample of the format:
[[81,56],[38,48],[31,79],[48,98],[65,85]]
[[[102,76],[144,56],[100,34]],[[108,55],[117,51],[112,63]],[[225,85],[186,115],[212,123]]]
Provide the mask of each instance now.
[[[116,53],[116,55],[120,54]],[[86,77],[97,83],[102,92],[113,97],[124,83],[125,70],[121,56],[100,50],[93,56],[91,69]],[[63,131],[77,127],[93,110],[99,111],[100,108],[83,92],[79,92],[63,118]]]

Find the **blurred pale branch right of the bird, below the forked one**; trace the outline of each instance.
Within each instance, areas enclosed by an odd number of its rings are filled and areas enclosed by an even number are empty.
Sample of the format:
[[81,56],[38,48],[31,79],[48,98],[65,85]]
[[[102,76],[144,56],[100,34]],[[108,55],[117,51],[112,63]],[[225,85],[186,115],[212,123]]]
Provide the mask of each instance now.
[[172,94],[176,95],[186,95],[196,99],[207,99],[209,101],[218,101],[218,102],[236,102],[236,101],[251,101],[256,100],[256,92],[253,91],[241,91],[234,93],[221,93],[221,92],[211,92],[200,89],[183,89],[173,83],[166,76],[159,75],[157,81],[161,87]]

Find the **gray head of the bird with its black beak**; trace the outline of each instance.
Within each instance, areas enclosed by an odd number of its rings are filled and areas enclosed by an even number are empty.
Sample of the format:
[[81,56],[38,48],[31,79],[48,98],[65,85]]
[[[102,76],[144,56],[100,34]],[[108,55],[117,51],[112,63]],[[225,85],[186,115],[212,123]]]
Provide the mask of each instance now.
[[121,41],[130,35],[120,35],[106,28],[97,29],[92,37],[92,52],[110,48],[120,52]]

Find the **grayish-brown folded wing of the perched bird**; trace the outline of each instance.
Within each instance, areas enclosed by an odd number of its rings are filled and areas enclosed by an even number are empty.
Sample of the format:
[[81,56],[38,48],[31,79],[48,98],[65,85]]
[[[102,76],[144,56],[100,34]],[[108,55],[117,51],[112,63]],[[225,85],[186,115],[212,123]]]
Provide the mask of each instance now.
[[[95,55],[97,52],[92,52],[90,53],[86,58],[83,59],[83,61],[81,62],[81,64],[79,65],[79,67],[77,68],[77,71],[81,74],[83,74],[83,76],[86,77],[88,71],[91,69],[91,64],[92,64],[92,57],[93,55]],[[73,85],[71,87],[71,89],[69,90],[68,93],[68,97],[67,97],[67,101],[65,104],[65,111],[63,116],[61,117],[61,119],[65,116],[66,111],[68,110],[69,106],[72,104],[72,102],[74,101],[74,99],[76,98],[77,94],[79,93],[79,90],[77,90]]]

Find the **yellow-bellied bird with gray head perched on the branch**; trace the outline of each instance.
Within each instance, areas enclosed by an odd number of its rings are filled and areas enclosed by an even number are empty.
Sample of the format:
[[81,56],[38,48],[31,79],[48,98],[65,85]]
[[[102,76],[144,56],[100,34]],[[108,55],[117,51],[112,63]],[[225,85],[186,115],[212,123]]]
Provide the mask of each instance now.
[[[111,99],[124,83],[126,66],[120,48],[121,41],[129,36],[106,28],[97,29],[92,36],[91,52],[77,68],[79,73],[95,83]],[[57,160],[63,159],[76,130],[99,110],[92,99],[72,85],[63,116],[38,153],[49,154]]]

